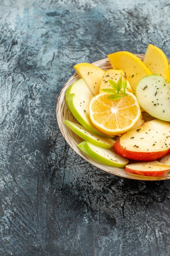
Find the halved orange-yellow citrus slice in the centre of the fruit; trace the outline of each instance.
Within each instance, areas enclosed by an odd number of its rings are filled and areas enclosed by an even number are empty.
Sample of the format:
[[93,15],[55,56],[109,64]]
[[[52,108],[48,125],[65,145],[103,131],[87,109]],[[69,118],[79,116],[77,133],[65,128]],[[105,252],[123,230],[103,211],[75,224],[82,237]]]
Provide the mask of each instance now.
[[109,99],[109,94],[94,96],[89,103],[89,116],[94,126],[108,135],[119,135],[130,130],[141,116],[136,97],[127,96],[118,100]]

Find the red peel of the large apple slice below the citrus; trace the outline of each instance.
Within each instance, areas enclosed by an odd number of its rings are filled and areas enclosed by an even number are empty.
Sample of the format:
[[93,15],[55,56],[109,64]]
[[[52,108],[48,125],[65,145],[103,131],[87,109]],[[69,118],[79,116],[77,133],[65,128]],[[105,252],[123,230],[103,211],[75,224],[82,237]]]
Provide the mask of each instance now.
[[114,143],[113,148],[119,155],[122,155],[123,157],[129,158],[132,160],[138,160],[138,161],[156,160],[168,154],[168,152],[170,152],[169,148],[167,150],[158,151],[158,152],[135,152],[135,151],[126,150],[120,145],[120,139],[118,139]]

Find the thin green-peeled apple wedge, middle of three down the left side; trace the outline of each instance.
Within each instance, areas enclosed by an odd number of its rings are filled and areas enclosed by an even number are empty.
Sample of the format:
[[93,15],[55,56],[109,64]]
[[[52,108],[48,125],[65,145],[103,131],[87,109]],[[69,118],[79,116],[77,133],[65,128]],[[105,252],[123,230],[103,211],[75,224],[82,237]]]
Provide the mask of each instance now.
[[82,139],[85,139],[89,143],[99,146],[101,148],[112,148],[115,143],[115,139],[107,139],[89,132],[86,128],[80,124],[75,124],[71,121],[65,120],[65,124]]

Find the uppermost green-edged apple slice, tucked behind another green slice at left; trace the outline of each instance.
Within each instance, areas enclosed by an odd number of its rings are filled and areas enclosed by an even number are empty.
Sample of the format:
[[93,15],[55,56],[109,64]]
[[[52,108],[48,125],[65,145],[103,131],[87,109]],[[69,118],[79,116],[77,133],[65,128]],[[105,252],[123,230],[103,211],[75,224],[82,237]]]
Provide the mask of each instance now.
[[90,100],[93,98],[93,94],[89,90],[83,78],[78,79],[78,81],[76,81],[75,83],[69,86],[65,94],[66,102],[67,102],[68,95],[72,93],[75,93],[87,105],[89,105]]

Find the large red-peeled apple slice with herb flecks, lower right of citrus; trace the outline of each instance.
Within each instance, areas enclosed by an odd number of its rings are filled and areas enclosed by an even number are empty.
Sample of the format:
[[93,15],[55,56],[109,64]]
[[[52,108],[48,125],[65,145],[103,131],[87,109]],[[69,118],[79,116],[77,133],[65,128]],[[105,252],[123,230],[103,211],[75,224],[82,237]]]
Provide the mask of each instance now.
[[113,148],[119,155],[133,160],[156,160],[170,151],[170,122],[148,121],[120,137]]

